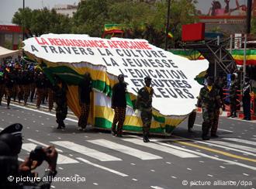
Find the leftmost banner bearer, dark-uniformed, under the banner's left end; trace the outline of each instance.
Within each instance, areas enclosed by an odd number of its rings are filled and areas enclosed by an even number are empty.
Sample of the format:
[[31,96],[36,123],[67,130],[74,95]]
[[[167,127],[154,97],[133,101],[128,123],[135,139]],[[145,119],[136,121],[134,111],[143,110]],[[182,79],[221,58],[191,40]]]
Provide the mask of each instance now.
[[56,101],[56,122],[57,129],[64,129],[64,119],[67,118],[67,85],[57,78],[57,85],[54,86]]

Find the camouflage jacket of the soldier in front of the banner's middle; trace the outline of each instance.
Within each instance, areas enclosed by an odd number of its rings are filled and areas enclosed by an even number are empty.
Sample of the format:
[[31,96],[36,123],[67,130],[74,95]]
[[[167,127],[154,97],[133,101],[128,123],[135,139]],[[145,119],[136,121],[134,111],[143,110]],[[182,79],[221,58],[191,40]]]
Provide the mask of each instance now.
[[150,92],[147,91],[147,88],[140,88],[137,95],[136,108],[140,111],[152,111],[152,98],[154,90],[150,87]]

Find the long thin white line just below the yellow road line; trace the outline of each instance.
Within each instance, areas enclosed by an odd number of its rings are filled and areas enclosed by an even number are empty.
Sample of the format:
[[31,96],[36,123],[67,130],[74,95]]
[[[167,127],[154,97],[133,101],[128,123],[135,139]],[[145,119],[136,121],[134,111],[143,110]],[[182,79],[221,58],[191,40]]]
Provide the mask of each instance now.
[[[161,144],[163,146],[169,146],[169,147],[172,147],[172,148],[176,148],[176,149],[182,149],[181,147],[174,146],[174,145],[171,145],[171,144],[166,144],[166,143],[159,143],[159,144]],[[237,165],[237,166],[240,166],[240,167],[245,167],[245,168],[250,169],[250,170],[256,170],[256,167],[252,167],[252,166],[246,165],[244,163],[237,163],[237,162],[234,162],[232,160],[224,160],[224,159],[221,159],[219,157],[209,156],[209,155],[206,155],[204,153],[195,152],[195,151],[190,150],[190,149],[182,149],[182,150],[184,150],[186,152],[189,152],[189,153],[195,153],[198,156],[207,157],[207,158],[212,159],[212,160],[223,161],[223,162],[226,162],[226,163],[229,163],[229,164]]]

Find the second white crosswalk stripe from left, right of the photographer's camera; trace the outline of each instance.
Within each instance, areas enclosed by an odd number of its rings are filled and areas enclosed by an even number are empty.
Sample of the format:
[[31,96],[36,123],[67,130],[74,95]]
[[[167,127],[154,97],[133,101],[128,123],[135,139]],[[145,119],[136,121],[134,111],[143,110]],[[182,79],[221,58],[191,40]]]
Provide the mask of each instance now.
[[90,156],[100,161],[121,161],[121,159],[117,158],[116,156],[110,156],[106,153],[99,152],[98,150],[81,146],[79,144],[72,143],[69,141],[54,141],[50,143],[54,143],[57,146],[71,149],[74,152],[84,154],[85,156]]

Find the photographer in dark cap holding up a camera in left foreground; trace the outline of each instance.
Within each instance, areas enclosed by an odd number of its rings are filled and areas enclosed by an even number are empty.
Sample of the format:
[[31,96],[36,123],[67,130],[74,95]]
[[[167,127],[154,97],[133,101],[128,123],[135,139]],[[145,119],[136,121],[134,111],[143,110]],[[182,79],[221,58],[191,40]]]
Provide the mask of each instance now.
[[[48,189],[57,174],[57,150],[54,146],[36,146],[24,162],[19,163],[22,148],[22,125],[9,125],[0,132],[0,188],[1,189]],[[48,163],[43,177],[33,172],[43,161]],[[49,179],[50,178],[50,179]]]

